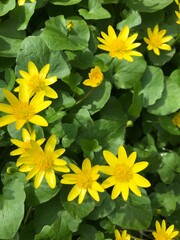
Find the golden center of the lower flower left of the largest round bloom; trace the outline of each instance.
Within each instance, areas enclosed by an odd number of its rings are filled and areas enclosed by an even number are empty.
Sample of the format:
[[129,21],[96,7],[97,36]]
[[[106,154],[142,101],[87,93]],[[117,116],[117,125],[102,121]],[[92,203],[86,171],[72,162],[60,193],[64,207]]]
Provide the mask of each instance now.
[[77,176],[77,185],[80,187],[80,188],[83,188],[83,189],[88,189],[88,188],[91,188],[92,187],[92,183],[93,183],[93,180],[92,180],[92,174],[91,172],[81,172],[78,174]]

